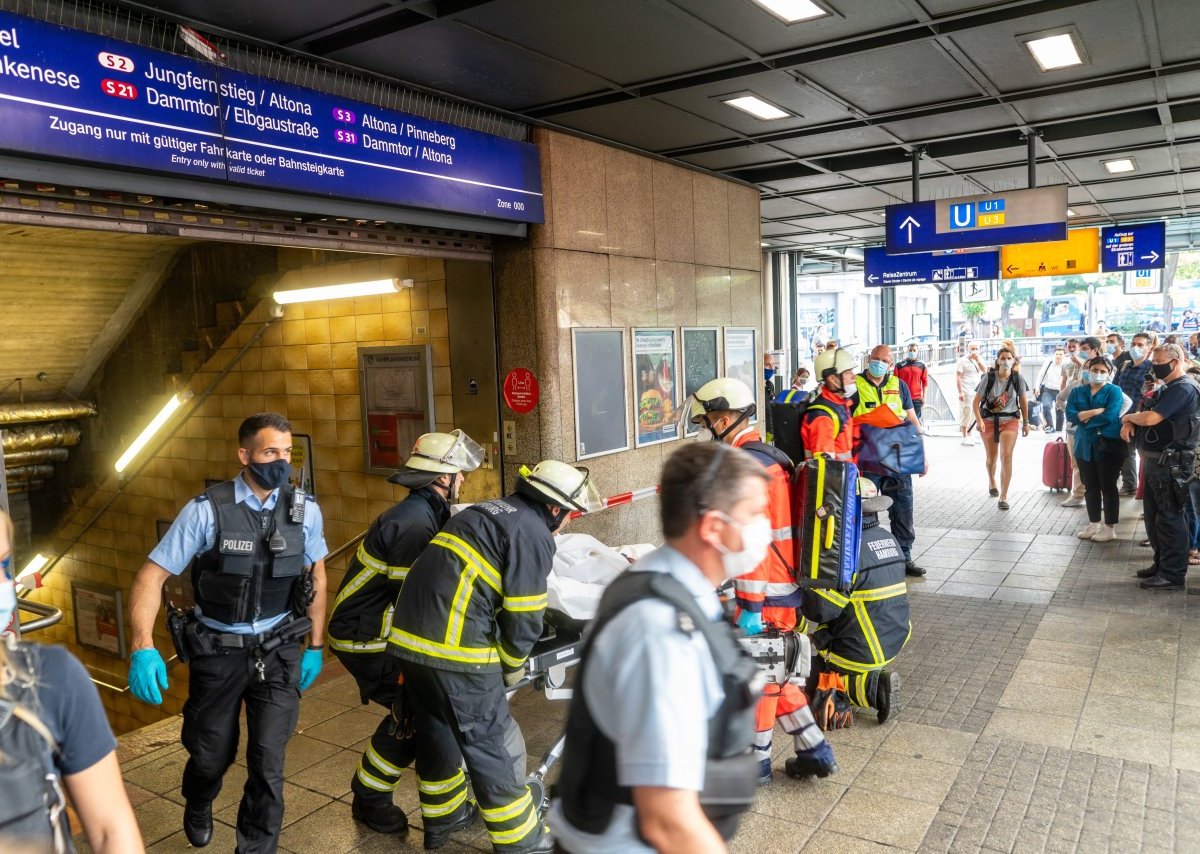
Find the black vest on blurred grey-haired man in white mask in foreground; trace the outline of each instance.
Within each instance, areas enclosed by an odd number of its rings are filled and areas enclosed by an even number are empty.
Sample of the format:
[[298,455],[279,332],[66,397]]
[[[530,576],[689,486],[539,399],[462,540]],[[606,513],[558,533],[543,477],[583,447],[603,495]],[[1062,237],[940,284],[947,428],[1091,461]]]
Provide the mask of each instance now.
[[617,804],[634,802],[629,787],[617,783],[616,746],[588,711],[583,680],[592,642],[612,618],[644,599],[661,599],[676,608],[679,630],[689,635],[700,632],[716,666],[725,699],[708,721],[708,760],[700,802],[718,832],[730,840],[738,819],[754,802],[758,783],[758,762],[750,746],[762,676],[754,658],[737,642],[733,627],[725,621],[710,621],[691,593],[662,572],[625,572],[605,590],[575,682],[578,687],[571,698],[556,795],[562,798],[566,820],[589,834],[604,832]]

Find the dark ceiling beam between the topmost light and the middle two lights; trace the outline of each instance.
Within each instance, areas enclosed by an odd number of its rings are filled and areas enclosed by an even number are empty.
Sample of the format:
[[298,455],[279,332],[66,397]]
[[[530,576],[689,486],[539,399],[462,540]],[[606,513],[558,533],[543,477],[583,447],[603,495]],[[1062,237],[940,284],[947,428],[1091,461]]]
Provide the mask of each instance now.
[[593,107],[606,107],[623,101],[634,101],[653,95],[665,95],[683,89],[691,89],[709,83],[721,83],[736,80],[751,74],[761,74],[764,71],[786,71],[811,62],[821,62],[830,59],[845,59],[857,54],[883,50],[925,42],[940,36],[953,35],[966,30],[1019,20],[1033,14],[1054,12],[1075,6],[1087,6],[1098,0],[1010,0],[1009,2],[992,6],[985,10],[970,10],[954,14],[932,18],[929,22],[914,22],[901,26],[892,26],[883,30],[875,30],[857,36],[839,38],[823,44],[817,44],[803,50],[790,50],[778,54],[769,54],[762,60],[749,60],[733,62],[715,68],[702,68],[684,74],[672,74],[653,80],[643,80],[631,86],[623,86],[607,92],[593,95],[581,95],[574,98],[563,98],[545,104],[530,106],[522,109],[527,116],[533,119],[547,119],[563,113],[572,113]]

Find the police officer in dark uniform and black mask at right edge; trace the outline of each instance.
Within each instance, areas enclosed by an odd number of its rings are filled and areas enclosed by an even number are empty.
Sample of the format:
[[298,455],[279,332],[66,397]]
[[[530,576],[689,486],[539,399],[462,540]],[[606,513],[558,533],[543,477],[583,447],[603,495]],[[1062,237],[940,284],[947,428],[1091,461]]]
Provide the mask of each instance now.
[[1138,571],[1145,590],[1182,590],[1188,571],[1189,533],[1183,522],[1187,481],[1200,439],[1200,387],[1187,375],[1188,357],[1177,344],[1156,347],[1151,371],[1163,385],[1141,411],[1121,419],[1121,438],[1136,437],[1146,479],[1142,511],[1154,563]]

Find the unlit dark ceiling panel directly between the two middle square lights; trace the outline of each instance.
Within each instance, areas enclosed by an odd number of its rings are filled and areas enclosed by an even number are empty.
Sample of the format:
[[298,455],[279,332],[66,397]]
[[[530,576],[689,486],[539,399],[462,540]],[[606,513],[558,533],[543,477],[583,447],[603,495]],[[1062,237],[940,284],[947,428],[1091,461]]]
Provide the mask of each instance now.
[[925,42],[869,56],[805,66],[805,77],[868,113],[979,95],[979,89],[935,46]]

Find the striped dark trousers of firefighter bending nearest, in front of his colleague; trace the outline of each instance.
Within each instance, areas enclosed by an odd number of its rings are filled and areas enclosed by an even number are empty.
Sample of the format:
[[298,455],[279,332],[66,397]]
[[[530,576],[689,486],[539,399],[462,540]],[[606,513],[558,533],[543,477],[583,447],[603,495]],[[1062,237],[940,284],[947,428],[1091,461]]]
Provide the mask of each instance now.
[[416,738],[416,789],[425,826],[452,820],[467,800],[463,760],[496,850],[535,840],[538,805],[517,775],[504,680],[404,662],[406,700]]

